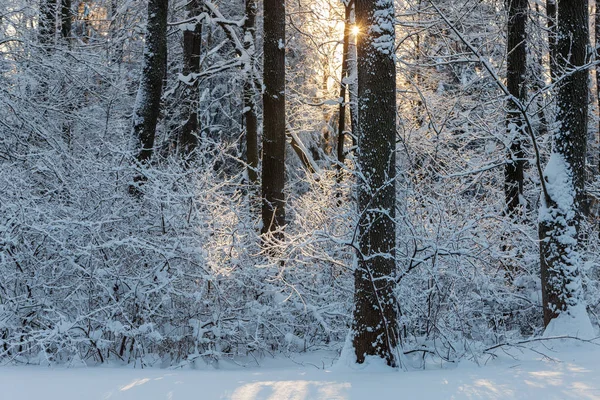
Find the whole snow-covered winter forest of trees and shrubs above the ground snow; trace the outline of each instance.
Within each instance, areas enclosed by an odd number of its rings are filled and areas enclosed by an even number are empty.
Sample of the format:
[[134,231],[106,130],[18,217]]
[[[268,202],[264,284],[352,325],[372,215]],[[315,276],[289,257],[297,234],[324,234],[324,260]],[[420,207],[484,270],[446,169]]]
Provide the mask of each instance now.
[[0,0],[0,363],[593,341],[596,2]]

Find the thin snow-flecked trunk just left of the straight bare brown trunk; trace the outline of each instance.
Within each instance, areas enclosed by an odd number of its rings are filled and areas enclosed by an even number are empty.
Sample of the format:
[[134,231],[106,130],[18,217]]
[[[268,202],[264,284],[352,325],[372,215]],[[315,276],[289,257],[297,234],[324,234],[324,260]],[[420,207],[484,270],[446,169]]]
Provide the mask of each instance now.
[[258,181],[258,117],[256,115],[256,90],[254,86],[254,62],[256,54],[256,0],[246,0],[246,20],[244,21],[244,46],[250,56],[244,80],[244,121],[246,122],[246,163],[248,179]]

